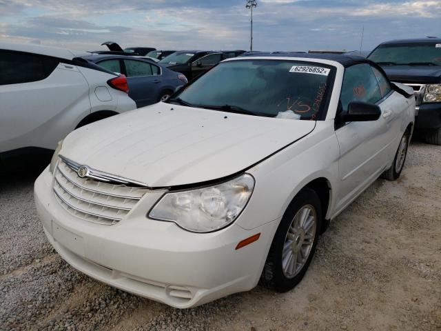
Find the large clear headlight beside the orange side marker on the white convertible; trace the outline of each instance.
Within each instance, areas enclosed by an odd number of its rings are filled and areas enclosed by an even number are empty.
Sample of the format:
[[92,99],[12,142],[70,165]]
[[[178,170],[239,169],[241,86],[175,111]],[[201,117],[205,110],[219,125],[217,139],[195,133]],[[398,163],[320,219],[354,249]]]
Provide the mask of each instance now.
[[192,232],[212,232],[234,222],[254,189],[254,177],[243,174],[231,181],[181,192],[166,193],[149,214],[172,221]]

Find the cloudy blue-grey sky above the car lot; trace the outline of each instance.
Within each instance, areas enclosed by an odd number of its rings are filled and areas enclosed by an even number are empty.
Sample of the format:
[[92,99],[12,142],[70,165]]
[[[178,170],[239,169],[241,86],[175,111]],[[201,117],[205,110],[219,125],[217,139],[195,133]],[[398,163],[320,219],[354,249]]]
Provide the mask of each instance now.
[[[441,0],[257,0],[254,50],[363,50],[441,37]],[[100,50],[249,50],[245,0],[0,0],[0,41]]]

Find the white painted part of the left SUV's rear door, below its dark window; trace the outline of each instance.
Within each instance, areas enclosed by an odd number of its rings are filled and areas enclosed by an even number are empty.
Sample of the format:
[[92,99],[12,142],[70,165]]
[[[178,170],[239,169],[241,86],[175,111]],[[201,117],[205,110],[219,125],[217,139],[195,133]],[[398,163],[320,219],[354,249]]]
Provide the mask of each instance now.
[[0,152],[54,149],[90,113],[88,83],[77,67],[68,68],[61,63],[42,81],[3,86],[10,108],[0,123]]

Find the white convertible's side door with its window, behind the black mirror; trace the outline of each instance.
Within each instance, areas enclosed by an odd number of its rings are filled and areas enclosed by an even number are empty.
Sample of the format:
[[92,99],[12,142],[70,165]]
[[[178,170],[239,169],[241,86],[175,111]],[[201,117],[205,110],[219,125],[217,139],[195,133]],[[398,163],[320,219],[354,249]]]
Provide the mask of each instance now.
[[[378,178],[389,161],[389,148],[396,132],[391,130],[393,114],[388,95],[382,95],[376,75],[368,63],[345,69],[340,93],[340,112],[351,101],[365,101],[380,106],[376,121],[338,123],[336,136],[340,146],[337,209],[345,208],[367,185]],[[338,117],[338,114],[337,114]]]

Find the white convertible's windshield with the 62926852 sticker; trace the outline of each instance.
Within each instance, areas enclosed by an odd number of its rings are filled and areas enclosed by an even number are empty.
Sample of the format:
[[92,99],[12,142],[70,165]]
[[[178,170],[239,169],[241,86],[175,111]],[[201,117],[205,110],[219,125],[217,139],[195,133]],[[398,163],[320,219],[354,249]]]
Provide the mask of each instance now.
[[304,61],[226,61],[170,102],[281,119],[323,119],[335,70]]

